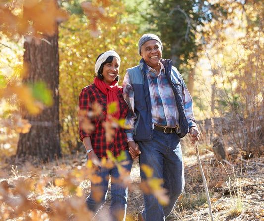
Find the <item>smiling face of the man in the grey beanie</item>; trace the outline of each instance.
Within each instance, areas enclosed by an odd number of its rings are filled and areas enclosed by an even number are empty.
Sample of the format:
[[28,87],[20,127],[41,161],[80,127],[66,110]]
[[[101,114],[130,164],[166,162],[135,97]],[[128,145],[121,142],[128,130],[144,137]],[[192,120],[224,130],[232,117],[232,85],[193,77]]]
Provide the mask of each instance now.
[[151,68],[155,69],[162,57],[161,45],[156,40],[149,40],[142,45],[140,55]]

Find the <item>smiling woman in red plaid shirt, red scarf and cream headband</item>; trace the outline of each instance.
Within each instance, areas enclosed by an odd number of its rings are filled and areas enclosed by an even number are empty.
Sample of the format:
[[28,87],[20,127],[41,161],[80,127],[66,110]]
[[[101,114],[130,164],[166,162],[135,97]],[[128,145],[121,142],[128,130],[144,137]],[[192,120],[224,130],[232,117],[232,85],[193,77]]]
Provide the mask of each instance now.
[[[91,193],[86,199],[88,208],[95,212],[98,212],[100,207],[106,201],[108,192],[108,182],[111,176],[111,203],[110,213],[112,220],[125,221],[126,207],[127,207],[127,186],[120,182],[114,182],[118,180],[120,174],[118,168],[105,168],[101,165],[101,159],[107,158],[107,151],[110,151],[114,157],[120,155],[122,151],[126,153],[126,164],[123,167],[129,171],[132,167],[132,159],[128,153],[127,139],[123,128],[115,128],[112,139],[109,142],[105,129],[105,123],[113,119],[124,119],[127,115],[128,106],[122,97],[122,87],[118,86],[119,80],[119,66],[120,57],[115,51],[106,51],[98,56],[95,64],[95,73],[97,77],[94,79],[94,83],[86,86],[82,89],[79,97],[79,111],[86,112],[85,117],[80,116],[80,140],[82,140],[87,157],[90,159],[94,166],[97,167],[95,172],[102,178],[101,183],[93,183],[91,180]],[[108,111],[107,107],[115,102],[116,111]],[[102,108],[101,114],[93,113],[93,105],[97,104]],[[89,115],[88,115],[89,113]],[[91,117],[92,116],[92,117]],[[86,130],[85,121],[83,119],[89,119],[86,122],[91,121],[94,125],[94,130],[89,132]],[[99,191],[102,191],[102,197],[99,197]],[[111,220],[110,219],[110,220]]]

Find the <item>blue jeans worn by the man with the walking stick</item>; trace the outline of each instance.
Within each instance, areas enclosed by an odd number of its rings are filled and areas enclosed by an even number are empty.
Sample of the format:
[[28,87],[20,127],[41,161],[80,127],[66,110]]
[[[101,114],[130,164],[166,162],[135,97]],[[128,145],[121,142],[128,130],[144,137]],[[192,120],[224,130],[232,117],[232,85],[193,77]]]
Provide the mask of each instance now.
[[[168,191],[169,203],[162,206],[152,194],[144,194],[144,221],[165,221],[171,213],[184,188],[184,171],[180,139],[177,134],[153,131],[150,141],[138,142],[141,150],[140,167],[147,165],[153,169],[153,177],[163,180]],[[141,180],[146,176],[140,170]]]

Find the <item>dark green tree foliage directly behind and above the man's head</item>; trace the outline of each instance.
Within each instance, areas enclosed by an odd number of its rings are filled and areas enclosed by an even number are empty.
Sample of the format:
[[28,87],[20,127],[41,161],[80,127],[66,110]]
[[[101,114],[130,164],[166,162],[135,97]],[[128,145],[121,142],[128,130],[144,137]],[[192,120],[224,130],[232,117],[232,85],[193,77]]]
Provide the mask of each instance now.
[[150,0],[146,19],[149,30],[160,35],[164,42],[163,57],[172,59],[179,68],[181,63],[189,64],[197,57],[202,42],[197,41],[196,33],[213,16],[207,1]]

